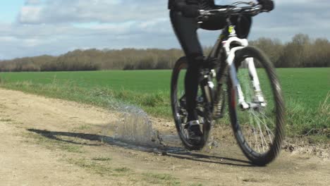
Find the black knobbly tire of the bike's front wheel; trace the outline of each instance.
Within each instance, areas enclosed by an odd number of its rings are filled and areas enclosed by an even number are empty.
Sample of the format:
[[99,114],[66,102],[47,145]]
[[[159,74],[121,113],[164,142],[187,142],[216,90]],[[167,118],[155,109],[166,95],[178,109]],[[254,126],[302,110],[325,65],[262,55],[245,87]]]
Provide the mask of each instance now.
[[249,159],[253,164],[257,166],[265,166],[271,161],[274,161],[274,159],[276,159],[276,157],[279,155],[279,152],[281,151],[281,144],[284,139],[285,106],[281,93],[279,79],[276,75],[274,66],[269,61],[269,58],[261,50],[253,46],[247,46],[236,52],[235,61],[241,61],[243,60],[243,58],[246,58],[246,56],[257,58],[257,60],[262,63],[262,66],[267,73],[267,77],[269,78],[269,82],[271,84],[272,92],[274,95],[274,103],[276,105],[276,132],[269,151],[264,154],[258,154],[257,152],[252,151],[252,149],[248,146],[247,142],[245,142],[243,132],[240,130],[240,125],[237,120],[235,109],[236,106],[232,104],[232,99],[236,99],[235,97],[233,97],[233,95],[236,93],[232,88],[230,77],[228,79],[229,114],[236,141],[238,142],[240,149],[243,151],[243,154],[245,154],[247,159]]

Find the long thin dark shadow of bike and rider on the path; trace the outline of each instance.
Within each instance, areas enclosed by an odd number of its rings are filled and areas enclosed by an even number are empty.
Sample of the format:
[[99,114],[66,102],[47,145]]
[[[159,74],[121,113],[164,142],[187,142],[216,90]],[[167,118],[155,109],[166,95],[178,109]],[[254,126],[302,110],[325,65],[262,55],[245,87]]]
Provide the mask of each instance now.
[[[200,161],[203,163],[217,163],[228,166],[244,166],[252,167],[254,166],[250,161],[233,159],[224,156],[214,156],[209,154],[203,154],[197,151],[188,151],[183,147],[147,147],[136,144],[129,144],[127,142],[121,142],[114,137],[109,137],[105,135],[92,135],[81,132],[56,132],[49,130],[37,130],[37,129],[27,129],[27,131],[35,132],[38,135],[42,135],[50,140],[56,140],[59,142],[66,142],[70,144],[80,144],[87,146],[102,146],[104,144],[109,144],[111,146],[123,147],[126,149],[132,149],[137,151],[145,151],[149,153],[155,153],[160,156],[170,156],[176,159],[186,159],[191,161]],[[63,139],[61,137],[73,137],[81,140],[89,140],[92,142],[97,142],[96,144],[90,144],[87,142],[76,142],[73,139]]]

